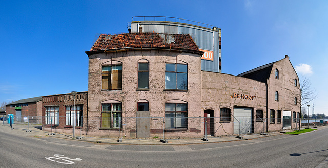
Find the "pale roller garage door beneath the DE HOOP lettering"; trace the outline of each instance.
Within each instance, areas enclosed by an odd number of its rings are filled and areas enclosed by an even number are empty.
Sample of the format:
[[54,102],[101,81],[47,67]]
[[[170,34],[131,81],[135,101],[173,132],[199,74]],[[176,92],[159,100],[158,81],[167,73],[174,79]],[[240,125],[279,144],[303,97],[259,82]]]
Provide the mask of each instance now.
[[252,109],[251,108],[234,108],[234,134],[239,134],[239,119],[240,133],[251,133],[252,128]]

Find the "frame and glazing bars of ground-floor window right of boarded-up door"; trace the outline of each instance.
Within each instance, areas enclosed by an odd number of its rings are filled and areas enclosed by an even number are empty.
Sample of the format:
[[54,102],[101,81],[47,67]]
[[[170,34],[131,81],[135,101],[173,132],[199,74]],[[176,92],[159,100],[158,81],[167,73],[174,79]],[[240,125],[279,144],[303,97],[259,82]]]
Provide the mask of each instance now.
[[[175,111],[166,111],[166,105],[167,104],[175,104]],[[177,105],[178,104],[185,105],[186,106],[186,111],[177,111]],[[175,117],[166,117],[167,113],[173,113]],[[181,125],[184,124],[181,127],[177,127],[177,119],[180,118],[180,117],[177,116],[177,113],[181,113],[181,115],[182,115],[182,113],[186,114],[186,117],[185,117],[186,120],[185,121],[183,121],[182,120],[183,117],[181,117]],[[188,104],[187,103],[165,103],[164,117],[165,117],[165,123],[168,123],[168,122],[171,123],[172,122],[171,120],[173,118],[173,125],[175,125],[175,126],[172,127],[172,124],[170,124],[171,126],[167,127],[167,124],[165,124],[165,129],[171,129],[171,130],[179,130],[179,129],[185,130],[185,129],[188,129]],[[168,118],[170,118],[170,119],[168,119]]]

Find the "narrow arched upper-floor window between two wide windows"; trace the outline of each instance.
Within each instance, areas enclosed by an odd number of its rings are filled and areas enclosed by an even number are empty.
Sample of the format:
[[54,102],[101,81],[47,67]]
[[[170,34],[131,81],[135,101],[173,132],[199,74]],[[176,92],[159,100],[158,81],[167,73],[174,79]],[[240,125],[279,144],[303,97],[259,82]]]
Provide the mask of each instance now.
[[138,89],[149,89],[149,62],[146,59],[138,61]]

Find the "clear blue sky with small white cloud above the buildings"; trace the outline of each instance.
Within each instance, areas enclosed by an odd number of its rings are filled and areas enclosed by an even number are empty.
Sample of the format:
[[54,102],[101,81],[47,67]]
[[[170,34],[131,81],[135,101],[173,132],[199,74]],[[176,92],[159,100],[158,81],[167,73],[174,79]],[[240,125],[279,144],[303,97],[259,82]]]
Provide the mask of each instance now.
[[126,33],[133,16],[168,16],[222,30],[222,72],[240,74],[289,55],[328,115],[328,1],[2,1],[0,102],[88,90],[100,34]]

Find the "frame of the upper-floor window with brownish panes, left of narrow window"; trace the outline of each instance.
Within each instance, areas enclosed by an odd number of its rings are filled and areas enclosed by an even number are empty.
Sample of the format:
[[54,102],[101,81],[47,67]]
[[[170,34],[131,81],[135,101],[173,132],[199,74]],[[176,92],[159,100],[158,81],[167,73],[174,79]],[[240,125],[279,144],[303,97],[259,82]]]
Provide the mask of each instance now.
[[[116,61],[115,61],[116,62]],[[117,72],[117,88],[113,88],[113,67],[114,66],[120,66],[121,69],[118,69]],[[111,70],[104,73],[104,67],[110,67]],[[121,70],[121,72],[119,72]],[[108,76],[108,80],[110,80],[110,83],[108,83],[108,88],[104,88],[104,77]],[[109,86],[110,84],[110,86]],[[120,87],[119,87],[120,86]],[[123,87],[123,64],[122,63],[115,63],[115,64],[105,64],[101,65],[101,90],[121,90]]]

